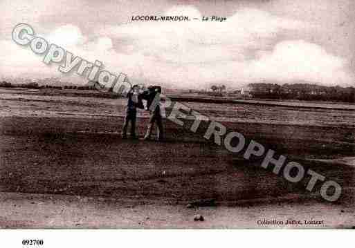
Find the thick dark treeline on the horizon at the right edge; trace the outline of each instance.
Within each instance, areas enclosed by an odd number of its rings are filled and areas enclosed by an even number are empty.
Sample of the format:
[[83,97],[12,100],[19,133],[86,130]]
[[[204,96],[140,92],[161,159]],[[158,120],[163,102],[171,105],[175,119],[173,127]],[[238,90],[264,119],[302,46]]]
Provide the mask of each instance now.
[[355,102],[354,87],[268,83],[253,83],[248,86],[251,88],[251,95],[255,98]]

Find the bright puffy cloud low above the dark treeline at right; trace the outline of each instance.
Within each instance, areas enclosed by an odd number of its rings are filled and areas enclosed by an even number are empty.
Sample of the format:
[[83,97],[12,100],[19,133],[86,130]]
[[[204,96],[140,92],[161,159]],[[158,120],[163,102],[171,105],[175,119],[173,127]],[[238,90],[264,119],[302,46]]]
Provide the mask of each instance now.
[[263,79],[285,83],[349,84],[351,79],[344,68],[344,59],[302,40],[282,41],[271,52],[251,63],[251,69]]

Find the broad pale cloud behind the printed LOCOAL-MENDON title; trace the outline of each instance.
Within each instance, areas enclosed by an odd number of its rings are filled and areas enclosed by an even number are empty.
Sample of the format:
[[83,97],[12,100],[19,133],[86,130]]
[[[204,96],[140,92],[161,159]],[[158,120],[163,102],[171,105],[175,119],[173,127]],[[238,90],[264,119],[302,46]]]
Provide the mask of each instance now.
[[300,21],[253,9],[239,10],[226,22],[200,21],[201,13],[192,6],[173,7],[165,15],[188,15],[199,21],[134,22],[98,34],[125,41],[122,52],[188,64],[246,59],[254,50],[268,48],[278,32],[302,26]]

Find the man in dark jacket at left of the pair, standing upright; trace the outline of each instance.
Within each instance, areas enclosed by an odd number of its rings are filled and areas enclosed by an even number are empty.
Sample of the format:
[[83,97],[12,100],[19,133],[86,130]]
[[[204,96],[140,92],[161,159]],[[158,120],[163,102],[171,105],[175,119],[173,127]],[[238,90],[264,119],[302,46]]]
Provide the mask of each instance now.
[[144,108],[142,98],[139,95],[138,85],[132,86],[131,90],[127,94],[127,108],[125,122],[122,128],[122,138],[127,138],[127,127],[128,123],[131,122],[131,138],[136,138],[136,118],[137,118],[137,108]]

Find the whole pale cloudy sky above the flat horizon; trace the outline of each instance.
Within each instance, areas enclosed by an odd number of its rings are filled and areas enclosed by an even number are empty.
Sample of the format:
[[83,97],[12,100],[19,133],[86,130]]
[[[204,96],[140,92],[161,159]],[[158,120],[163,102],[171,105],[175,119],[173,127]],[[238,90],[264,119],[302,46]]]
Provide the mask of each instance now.
[[[186,22],[131,21],[185,15]],[[201,17],[227,17],[224,22]],[[172,88],[240,88],[253,82],[355,83],[355,1],[1,0],[0,77],[78,75],[47,66],[11,39],[17,23],[131,82]]]

